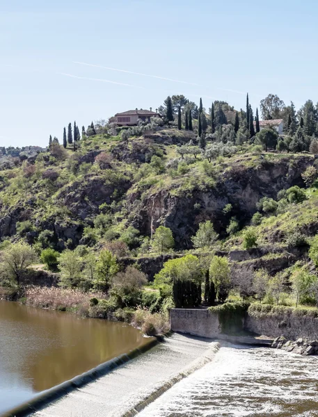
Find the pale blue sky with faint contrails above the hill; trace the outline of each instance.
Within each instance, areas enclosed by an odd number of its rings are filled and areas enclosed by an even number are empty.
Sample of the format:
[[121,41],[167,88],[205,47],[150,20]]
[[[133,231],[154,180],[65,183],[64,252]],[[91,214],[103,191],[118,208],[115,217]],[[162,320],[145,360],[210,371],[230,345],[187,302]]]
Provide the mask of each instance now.
[[314,0],[0,0],[0,146],[174,94],[316,103],[317,14]]

